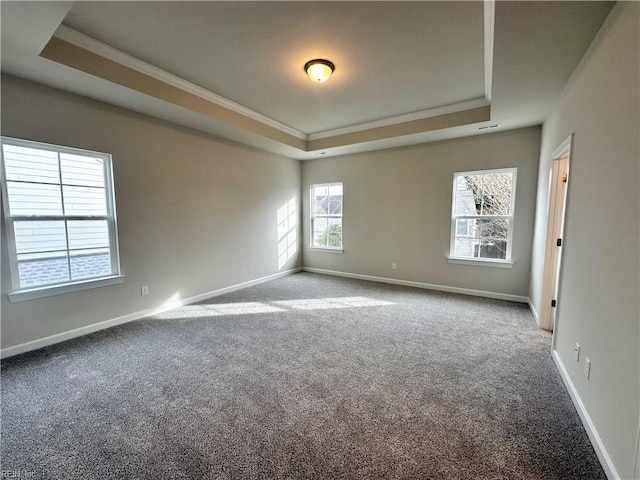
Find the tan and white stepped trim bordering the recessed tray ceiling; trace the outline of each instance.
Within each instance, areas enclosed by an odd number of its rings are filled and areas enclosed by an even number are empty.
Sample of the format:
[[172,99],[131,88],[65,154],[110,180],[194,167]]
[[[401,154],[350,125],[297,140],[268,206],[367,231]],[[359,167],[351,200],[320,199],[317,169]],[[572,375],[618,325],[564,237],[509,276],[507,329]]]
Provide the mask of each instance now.
[[490,120],[494,0],[484,3],[485,97],[306,134],[60,24],[40,56],[304,152]]

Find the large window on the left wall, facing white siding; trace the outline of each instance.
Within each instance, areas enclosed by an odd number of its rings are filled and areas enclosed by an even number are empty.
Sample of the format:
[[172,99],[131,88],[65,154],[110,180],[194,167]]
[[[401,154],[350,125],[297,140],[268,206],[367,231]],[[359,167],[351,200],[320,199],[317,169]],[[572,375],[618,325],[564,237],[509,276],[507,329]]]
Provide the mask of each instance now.
[[116,283],[110,155],[2,137],[2,190],[12,301]]

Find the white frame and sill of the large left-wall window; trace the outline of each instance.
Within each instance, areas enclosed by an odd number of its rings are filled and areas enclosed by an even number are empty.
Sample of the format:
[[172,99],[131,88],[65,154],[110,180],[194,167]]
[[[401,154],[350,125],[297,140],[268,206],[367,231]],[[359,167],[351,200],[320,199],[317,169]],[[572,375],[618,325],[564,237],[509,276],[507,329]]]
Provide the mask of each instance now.
[[[12,145],[25,148],[34,148],[38,150],[47,150],[51,152],[68,153],[72,155],[93,156],[103,160],[104,180],[105,180],[105,200],[106,215],[11,215],[9,209],[9,196],[6,183],[5,162],[4,162],[4,145]],[[4,222],[6,231],[7,250],[9,253],[9,264],[11,270],[12,291],[7,294],[11,303],[21,302],[25,300],[33,300],[36,298],[50,297],[63,293],[76,292],[91,288],[103,287],[106,285],[114,285],[122,283],[124,276],[120,272],[120,256],[118,248],[118,232],[117,218],[115,207],[115,189],[113,185],[113,166],[111,155],[91,150],[65,147],[31,140],[22,140],[11,137],[0,137],[0,183],[2,186],[2,203],[4,205]],[[59,157],[58,157],[59,158]],[[15,229],[14,223],[21,220],[106,220],[109,235],[109,250],[111,256],[111,273],[109,275],[92,277],[80,280],[71,280],[58,283],[52,283],[37,287],[20,287],[20,275],[18,269],[18,256],[16,251]],[[68,251],[68,246],[67,246]]]

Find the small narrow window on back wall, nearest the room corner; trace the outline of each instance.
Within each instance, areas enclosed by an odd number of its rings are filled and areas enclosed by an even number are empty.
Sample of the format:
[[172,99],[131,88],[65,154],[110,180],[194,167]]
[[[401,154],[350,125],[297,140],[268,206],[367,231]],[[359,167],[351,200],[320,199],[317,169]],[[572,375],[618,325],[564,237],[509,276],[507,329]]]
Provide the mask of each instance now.
[[342,250],[342,183],[311,185],[311,246]]

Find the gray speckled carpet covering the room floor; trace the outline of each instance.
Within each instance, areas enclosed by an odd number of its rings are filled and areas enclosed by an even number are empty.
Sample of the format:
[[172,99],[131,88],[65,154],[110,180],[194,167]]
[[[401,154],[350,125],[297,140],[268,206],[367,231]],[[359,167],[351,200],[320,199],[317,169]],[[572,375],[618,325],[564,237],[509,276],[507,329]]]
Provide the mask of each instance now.
[[2,362],[3,471],[604,479],[525,305],[300,273]]

